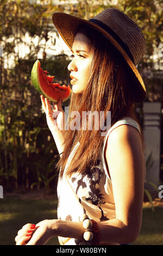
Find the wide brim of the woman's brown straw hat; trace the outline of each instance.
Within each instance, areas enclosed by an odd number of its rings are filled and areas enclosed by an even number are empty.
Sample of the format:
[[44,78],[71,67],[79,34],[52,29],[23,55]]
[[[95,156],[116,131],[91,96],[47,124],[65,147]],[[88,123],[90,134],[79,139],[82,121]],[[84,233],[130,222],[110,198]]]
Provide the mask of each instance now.
[[135,64],[131,61],[128,54],[123,50],[123,48],[118,44],[118,42],[103,28],[98,25],[92,23],[91,21],[84,20],[82,18],[66,14],[66,13],[54,13],[52,17],[54,26],[57,28],[58,33],[61,38],[64,40],[65,44],[72,49],[74,38],[78,31],[79,25],[87,25],[98,32],[101,32],[109,41],[114,45],[117,50],[122,54],[123,58],[126,60],[127,64],[131,69],[131,80],[133,78],[134,83],[131,84],[132,94],[134,95],[135,102],[142,102],[146,97],[146,87],[143,83],[142,77],[137,70]]

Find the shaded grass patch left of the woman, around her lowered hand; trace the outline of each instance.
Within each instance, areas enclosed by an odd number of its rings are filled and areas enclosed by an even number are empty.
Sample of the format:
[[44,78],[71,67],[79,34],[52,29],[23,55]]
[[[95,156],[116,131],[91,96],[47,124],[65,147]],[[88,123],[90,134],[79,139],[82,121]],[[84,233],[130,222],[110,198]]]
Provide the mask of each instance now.
[[[17,231],[27,223],[57,218],[58,200],[20,199],[8,196],[0,199],[0,245],[15,245]],[[59,245],[58,237],[47,245]]]

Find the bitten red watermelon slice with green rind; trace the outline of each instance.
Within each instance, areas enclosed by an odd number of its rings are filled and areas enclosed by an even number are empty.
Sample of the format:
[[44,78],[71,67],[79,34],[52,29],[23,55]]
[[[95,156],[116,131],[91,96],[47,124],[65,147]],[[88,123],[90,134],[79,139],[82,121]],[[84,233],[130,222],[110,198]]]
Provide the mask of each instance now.
[[47,74],[48,72],[41,68],[39,60],[36,60],[32,68],[31,80],[37,92],[53,102],[68,100],[72,92],[70,86],[53,83],[54,76],[47,76]]

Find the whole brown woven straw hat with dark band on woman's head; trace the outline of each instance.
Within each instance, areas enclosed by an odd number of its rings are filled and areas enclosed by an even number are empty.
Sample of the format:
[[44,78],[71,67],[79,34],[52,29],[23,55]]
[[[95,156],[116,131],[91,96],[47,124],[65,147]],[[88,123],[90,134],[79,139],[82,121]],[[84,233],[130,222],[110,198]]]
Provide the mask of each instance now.
[[54,13],[53,23],[70,49],[79,25],[88,25],[101,32],[121,52],[133,71],[131,72],[131,90],[134,101],[141,102],[145,99],[146,87],[136,65],[146,52],[146,40],[140,27],[126,14],[115,8],[109,8],[87,21],[66,13]]

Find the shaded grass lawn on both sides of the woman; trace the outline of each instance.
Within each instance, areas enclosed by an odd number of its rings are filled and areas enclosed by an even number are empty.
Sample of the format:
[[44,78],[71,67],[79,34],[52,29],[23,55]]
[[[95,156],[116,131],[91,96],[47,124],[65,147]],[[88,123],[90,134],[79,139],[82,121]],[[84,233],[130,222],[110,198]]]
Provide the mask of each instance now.
[[[58,201],[20,199],[8,196],[0,199],[0,245],[15,245],[17,231],[26,223],[38,223],[45,219],[57,218]],[[138,239],[132,245],[163,245],[163,208],[143,208],[142,228]],[[59,245],[58,238],[47,245]]]

